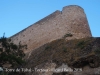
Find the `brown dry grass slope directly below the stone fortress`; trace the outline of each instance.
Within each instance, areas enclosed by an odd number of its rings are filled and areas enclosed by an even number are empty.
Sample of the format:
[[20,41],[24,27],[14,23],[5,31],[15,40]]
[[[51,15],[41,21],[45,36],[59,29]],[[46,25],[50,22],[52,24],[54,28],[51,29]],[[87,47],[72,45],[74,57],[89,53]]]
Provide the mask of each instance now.
[[81,57],[95,54],[92,50],[95,42],[98,42],[96,38],[54,40],[33,51],[26,66],[34,68],[45,62],[55,62],[58,66],[67,63],[70,66]]

